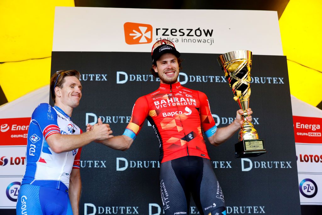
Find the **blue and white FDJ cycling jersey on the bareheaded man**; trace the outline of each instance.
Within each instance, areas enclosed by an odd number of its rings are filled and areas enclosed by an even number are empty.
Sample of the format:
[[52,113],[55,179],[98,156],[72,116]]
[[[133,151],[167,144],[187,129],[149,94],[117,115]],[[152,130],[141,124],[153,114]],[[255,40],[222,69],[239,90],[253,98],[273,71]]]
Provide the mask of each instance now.
[[81,148],[55,153],[46,142],[55,133],[81,134],[82,131],[59,107],[39,104],[29,125],[26,172],[22,184],[59,189],[62,182],[69,188],[71,169],[80,168]]

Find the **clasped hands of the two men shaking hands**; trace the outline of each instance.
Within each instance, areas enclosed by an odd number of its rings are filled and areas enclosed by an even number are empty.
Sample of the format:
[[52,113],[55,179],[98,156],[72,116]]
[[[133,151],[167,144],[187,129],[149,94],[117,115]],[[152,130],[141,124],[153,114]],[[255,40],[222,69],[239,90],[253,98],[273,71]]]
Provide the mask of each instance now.
[[111,135],[113,132],[109,127],[109,124],[103,124],[100,118],[98,119],[98,123],[95,125],[87,124],[86,132],[93,132],[95,142],[102,142],[103,140],[114,137]]

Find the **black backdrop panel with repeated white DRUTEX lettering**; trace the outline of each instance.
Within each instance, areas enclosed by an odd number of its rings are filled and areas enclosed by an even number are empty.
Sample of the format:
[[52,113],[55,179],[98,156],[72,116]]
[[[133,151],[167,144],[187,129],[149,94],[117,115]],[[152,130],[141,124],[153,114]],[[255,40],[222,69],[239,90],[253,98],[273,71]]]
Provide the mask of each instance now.
[[[182,53],[179,81],[208,96],[217,127],[224,127],[239,106],[218,56]],[[149,72],[151,63],[151,53],[52,52],[51,73],[80,71],[82,98],[73,122],[85,131],[87,123],[100,117],[117,136],[130,121],[137,98],[159,87]],[[227,214],[300,214],[286,57],[253,55],[251,76],[252,123],[267,153],[235,159],[237,133],[218,147],[206,139]],[[94,142],[84,146],[80,214],[163,214],[159,172],[159,144],[147,120],[127,151]],[[191,200],[189,214],[198,213]]]

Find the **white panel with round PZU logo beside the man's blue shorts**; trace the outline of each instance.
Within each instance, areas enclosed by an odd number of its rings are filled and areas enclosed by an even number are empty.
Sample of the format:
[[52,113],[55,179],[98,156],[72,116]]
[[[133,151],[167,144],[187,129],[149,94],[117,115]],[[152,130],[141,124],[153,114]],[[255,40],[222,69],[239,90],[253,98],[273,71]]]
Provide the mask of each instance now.
[[2,177],[0,176],[0,209],[15,209],[17,198],[22,181],[21,177]]

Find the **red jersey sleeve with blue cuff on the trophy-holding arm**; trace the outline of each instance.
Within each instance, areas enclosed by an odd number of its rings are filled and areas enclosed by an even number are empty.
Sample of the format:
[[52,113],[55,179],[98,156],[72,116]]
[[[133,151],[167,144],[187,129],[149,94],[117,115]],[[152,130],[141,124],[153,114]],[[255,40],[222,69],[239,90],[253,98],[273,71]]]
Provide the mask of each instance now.
[[211,137],[217,130],[215,121],[210,112],[210,105],[206,94],[198,92],[200,101],[200,120],[206,137]]

